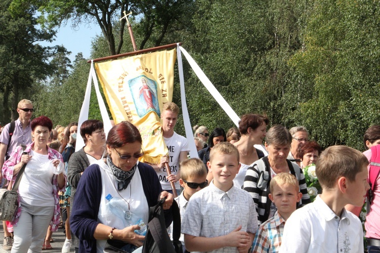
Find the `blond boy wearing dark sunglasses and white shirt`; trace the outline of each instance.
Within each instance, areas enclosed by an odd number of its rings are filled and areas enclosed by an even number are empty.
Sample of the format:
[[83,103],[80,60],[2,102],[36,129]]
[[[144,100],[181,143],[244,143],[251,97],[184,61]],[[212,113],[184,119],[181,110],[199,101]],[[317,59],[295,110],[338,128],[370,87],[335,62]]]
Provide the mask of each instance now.
[[[179,179],[179,184],[183,188],[183,191],[174,200],[177,201],[181,220],[183,220],[188,200],[194,193],[205,188],[208,185],[208,182],[206,180],[207,170],[205,164],[203,164],[203,161],[200,159],[191,158],[184,160],[180,163],[180,167],[181,178]],[[171,235],[172,226],[173,224],[168,229],[169,235]],[[179,240],[182,242],[183,252],[186,252],[183,234],[181,234]]]

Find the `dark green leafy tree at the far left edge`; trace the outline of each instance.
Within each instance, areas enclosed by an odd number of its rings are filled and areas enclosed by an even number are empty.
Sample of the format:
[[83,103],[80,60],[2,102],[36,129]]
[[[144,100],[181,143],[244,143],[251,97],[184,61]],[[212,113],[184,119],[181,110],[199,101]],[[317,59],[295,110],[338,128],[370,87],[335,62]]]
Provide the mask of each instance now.
[[37,42],[51,40],[54,32],[37,28],[35,8],[23,5],[16,14],[9,11],[11,2],[0,3],[2,122],[18,117],[18,101],[30,96],[34,80],[44,80],[52,70],[48,64],[52,48],[42,47]]

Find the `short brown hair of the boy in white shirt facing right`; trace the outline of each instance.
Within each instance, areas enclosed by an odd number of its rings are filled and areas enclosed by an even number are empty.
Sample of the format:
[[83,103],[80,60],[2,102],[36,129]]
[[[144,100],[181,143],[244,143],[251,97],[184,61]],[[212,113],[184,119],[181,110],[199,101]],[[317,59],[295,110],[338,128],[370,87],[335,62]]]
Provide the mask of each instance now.
[[319,156],[315,173],[322,189],[333,189],[340,177],[354,182],[363,166],[368,166],[368,159],[360,151],[347,146],[331,146]]

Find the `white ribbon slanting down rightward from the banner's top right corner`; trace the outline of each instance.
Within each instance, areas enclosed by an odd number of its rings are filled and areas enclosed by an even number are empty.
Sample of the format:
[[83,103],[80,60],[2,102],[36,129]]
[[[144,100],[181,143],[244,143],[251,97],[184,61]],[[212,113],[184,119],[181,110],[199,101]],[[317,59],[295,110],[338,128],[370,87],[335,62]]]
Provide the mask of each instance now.
[[182,54],[186,57],[186,60],[188,61],[190,66],[193,68],[199,80],[203,83],[206,89],[214,97],[216,102],[219,103],[220,107],[225,111],[225,113],[227,113],[227,115],[231,118],[231,120],[235,123],[235,125],[239,127],[239,120],[240,120],[239,116],[235,113],[235,111],[231,108],[231,106],[225,101],[225,99],[220,95],[218,90],[216,90],[216,88],[212,85],[211,81],[207,78],[205,73],[194,61],[194,59],[186,52],[186,50],[184,50],[181,46],[178,46],[178,48],[181,50]]

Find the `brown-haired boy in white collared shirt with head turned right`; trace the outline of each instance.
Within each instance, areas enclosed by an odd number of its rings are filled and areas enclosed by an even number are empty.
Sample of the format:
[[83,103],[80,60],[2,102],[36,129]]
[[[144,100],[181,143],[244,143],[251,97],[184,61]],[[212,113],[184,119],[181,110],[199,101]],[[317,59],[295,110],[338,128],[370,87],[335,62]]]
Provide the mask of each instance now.
[[362,224],[345,205],[363,205],[367,165],[367,158],[350,147],[323,151],[316,164],[322,194],[286,221],[280,252],[363,252]]

